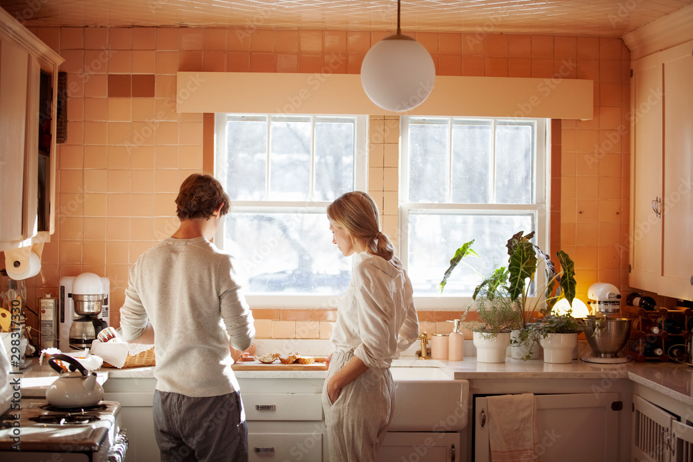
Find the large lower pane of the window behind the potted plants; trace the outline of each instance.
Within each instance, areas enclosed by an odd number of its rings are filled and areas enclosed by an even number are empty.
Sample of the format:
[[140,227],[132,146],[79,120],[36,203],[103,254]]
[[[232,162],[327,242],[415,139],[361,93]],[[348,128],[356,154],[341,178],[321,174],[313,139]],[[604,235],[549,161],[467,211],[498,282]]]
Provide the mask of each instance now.
[[[452,215],[420,213],[409,215],[409,267],[414,294],[439,294],[440,283],[450,258],[465,242],[474,240],[472,248],[481,258],[469,256],[462,260],[489,276],[496,267],[507,266],[505,245],[518,231],[529,233],[536,227],[534,213],[514,215]],[[461,263],[448,278],[444,295],[471,296],[483,281],[482,276]]]

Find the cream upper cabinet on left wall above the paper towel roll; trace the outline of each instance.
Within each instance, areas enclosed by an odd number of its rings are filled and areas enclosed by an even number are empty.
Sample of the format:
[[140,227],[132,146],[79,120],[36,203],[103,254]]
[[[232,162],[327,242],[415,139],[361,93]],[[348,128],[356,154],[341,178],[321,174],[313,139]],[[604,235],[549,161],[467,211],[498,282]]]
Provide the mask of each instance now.
[[47,242],[55,231],[58,66],[63,61],[0,8],[0,250]]

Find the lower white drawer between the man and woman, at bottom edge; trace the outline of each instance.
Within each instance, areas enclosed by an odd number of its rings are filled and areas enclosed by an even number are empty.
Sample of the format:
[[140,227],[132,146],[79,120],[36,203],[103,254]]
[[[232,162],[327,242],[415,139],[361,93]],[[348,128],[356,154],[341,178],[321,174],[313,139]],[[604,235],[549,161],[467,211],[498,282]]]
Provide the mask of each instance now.
[[250,462],[322,462],[322,434],[248,434]]

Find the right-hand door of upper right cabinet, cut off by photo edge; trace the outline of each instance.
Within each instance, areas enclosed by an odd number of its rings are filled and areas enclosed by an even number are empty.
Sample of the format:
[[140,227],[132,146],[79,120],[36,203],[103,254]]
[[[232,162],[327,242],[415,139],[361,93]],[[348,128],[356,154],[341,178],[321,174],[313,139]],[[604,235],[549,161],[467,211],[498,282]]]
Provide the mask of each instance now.
[[660,294],[693,299],[693,42],[663,51],[664,184]]

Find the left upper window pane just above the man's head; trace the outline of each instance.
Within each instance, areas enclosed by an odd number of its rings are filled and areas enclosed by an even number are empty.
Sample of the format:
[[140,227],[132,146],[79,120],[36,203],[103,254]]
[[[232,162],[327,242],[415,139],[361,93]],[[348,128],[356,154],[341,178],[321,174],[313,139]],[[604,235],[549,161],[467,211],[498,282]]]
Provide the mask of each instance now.
[[226,123],[227,170],[218,177],[231,200],[265,199],[267,118],[230,118]]

